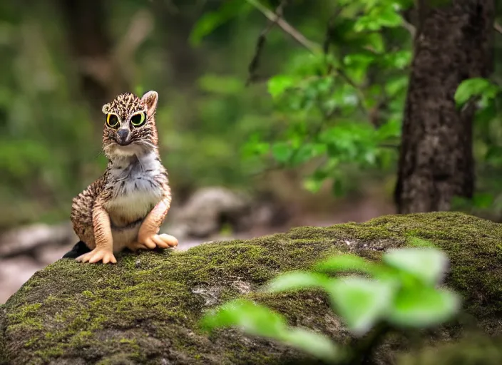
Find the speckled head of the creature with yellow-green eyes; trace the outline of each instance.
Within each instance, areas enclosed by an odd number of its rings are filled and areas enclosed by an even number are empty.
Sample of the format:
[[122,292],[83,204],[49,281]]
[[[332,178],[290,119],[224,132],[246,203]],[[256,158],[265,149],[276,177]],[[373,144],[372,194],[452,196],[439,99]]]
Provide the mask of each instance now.
[[103,151],[108,158],[143,155],[157,149],[157,101],[155,91],[141,98],[123,93],[103,106]]

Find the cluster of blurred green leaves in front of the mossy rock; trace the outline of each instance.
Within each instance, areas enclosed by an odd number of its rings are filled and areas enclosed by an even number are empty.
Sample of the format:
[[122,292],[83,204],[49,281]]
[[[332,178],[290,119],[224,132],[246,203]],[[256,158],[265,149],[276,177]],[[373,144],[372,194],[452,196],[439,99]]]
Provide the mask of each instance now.
[[[322,289],[334,312],[358,337],[381,324],[394,330],[434,327],[459,311],[460,297],[438,287],[448,268],[446,255],[420,241],[421,247],[389,250],[380,263],[350,254],[329,257],[316,264],[314,272],[281,274],[267,284],[265,292]],[[329,275],[341,272],[366,276]],[[208,331],[239,327],[247,334],[281,341],[324,360],[339,361],[350,354],[350,349],[323,335],[288,327],[280,314],[249,299],[236,299],[212,309],[201,323]]]

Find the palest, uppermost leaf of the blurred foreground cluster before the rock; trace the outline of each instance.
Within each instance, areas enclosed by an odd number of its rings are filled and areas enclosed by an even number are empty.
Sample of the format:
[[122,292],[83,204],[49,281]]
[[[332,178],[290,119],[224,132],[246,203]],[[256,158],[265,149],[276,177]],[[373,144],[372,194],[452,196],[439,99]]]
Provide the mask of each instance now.
[[432,248],[393,249],[385,252],[382,259],[389,266],[408,272],[429,285],[443,277],[449,264],[444,252]]

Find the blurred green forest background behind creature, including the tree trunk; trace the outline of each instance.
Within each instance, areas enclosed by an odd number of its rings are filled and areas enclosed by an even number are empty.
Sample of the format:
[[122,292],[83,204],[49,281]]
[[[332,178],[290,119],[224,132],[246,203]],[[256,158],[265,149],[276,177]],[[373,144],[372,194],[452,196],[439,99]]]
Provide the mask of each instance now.
[[67,220],[106,166],[101,106],[148,90],[175,204],[218,185],[501,220],[494,5],[1,1],[0,230]]

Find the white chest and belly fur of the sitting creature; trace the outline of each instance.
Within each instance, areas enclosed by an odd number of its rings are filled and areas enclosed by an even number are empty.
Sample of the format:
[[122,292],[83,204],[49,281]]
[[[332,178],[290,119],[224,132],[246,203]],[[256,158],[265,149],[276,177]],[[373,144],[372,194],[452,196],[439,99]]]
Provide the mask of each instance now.
[[158,176],[162,165],[151,153],[130,163],[118,161],[111,166],[108,187],[111,199],[104,205],[112,225],[124,226],[142,220],[163,195]]

